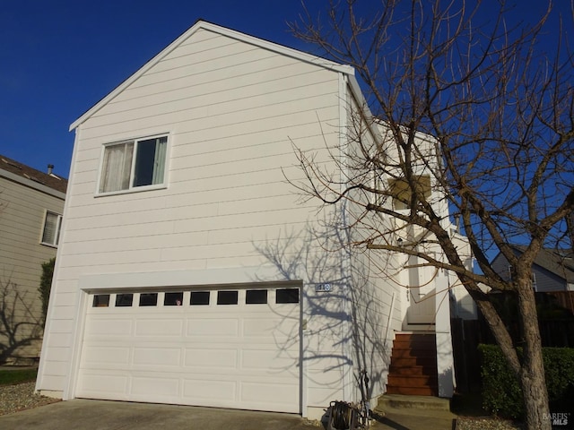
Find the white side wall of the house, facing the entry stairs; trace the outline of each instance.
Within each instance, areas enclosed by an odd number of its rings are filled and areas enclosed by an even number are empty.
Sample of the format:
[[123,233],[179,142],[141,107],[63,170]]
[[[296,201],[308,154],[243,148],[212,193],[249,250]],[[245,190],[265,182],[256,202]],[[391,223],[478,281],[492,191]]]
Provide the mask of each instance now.
[[[350,96],[352,90],[349,89],[347,94]],[[347,105],[348,125],[346,128],[349,130],[347,137],[350,145],[344,146],[343,152],[349,156],[347,159],[352,163],[351,160],[355,159],[358,139],[361,139],[364,146],[368,148],[371,144],[380,142],[381,136],[378,134],[378,129],[373,126],[369,117],[370,113],[364,109],[364,100],[349,97]],[[361,110],[363,110],[362,113]],[[350,176],[354,173],[352,166],[350,166],[349,173]],[[345,182],[344,178],[341,182]],[[356,198],[357,201],[361,201],[360,196]],[[364,211],[361,206],[355,207],[353,200],[352,195],[346,202],[347,225],[354,225],[357,221],[356,216],[361,216]],[[385,217],[380,217],[380,219],[378,226],[380,231],[393,227],[393,220]],[[358,225],[361,226],[361,223]],[[348,240],[363,242],[366,239],[365,235],[370,235],[370,233],[372,232],[363,231],[361,228],[352,228],[347,232],[350,235]],[[344,258],[348,260],[346,276],[350,280],[347,306],[352,318],[350,336],[353,340],[353,400],[361,400],[361,392],[358,384],[355,383],[355,375],[358,375],[361,370],[366,370],[370,379],[368,396],[372,408],[376,405],[378,396],[386,391],[393,340],[396,331],[402,329],[401,307],[404,294],[401,292],[404,293],[404,288],[396,282],[396,274],[400,271],[396,256],[384,251],[355,252],[352,247],[347,247],[344,254]]]

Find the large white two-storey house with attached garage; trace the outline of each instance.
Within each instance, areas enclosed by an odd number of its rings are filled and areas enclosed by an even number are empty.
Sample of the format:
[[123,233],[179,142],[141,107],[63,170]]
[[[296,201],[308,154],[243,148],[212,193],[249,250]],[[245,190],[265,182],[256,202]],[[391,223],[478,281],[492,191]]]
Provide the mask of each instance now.
[[336,169],[362,104],[351,67],[200,21],[77,119],[37,390],[320,417],[417,330],[451,396],[452,275],[380,276],[285,180],[293,143]]

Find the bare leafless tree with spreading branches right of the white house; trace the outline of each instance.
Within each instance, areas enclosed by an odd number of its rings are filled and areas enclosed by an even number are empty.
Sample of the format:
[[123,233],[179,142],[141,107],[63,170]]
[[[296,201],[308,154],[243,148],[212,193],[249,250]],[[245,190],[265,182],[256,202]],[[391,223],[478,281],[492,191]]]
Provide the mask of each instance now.
[[[573,10],[558,16],[549,3],[527,23],[503,1],[331,0],[325,15],[306,10],[291,24],[321,55],[354,67],[373,114],[349,115],[350,145],[335,160],[342,178],[299,153],[300,188],[352,204],[350,226],[362,231],[352,246],[457,274],[520,382],[529,429],[551,428],[532,264],[544,246],[569,245],[565,219],[574,211]],[[460,220],[478,271],[440,204]],[[381,219],[400,222],[383,228]],[[515,254],[514,244],[526,251]],[[510,280],[491,267],[499,252]],[[517,297],[524,359],[486,290]]]

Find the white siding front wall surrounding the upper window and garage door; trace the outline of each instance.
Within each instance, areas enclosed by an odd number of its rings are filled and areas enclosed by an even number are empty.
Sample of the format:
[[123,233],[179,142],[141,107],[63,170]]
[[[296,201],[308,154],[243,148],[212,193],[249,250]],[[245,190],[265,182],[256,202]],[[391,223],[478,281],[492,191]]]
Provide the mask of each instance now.
[[[349,397],[342,333],[324,330],[343,300],[317,307],[309,286],[334,279],[340,260],[330,256],[320,276],[314,270],[325,263],[309,240],[317,207],[299,204],[284,177],[301,176],[291,142],[337,144],[339,74],[197,30],[78,126],[39,391],[74,397],[83,290],[291,279],[307,286],[303,415]],[[170,136],[167,188],[96,195],[102,145],[157,133]],[[306,258],[288,273],[265,256],[275,250],[292,262],[301,247]]]

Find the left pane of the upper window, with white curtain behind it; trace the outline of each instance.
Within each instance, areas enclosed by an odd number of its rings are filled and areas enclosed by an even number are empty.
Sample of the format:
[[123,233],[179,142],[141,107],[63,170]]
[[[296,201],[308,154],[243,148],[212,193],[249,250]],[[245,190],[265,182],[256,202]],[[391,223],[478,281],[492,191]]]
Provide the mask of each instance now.
[[106,147],[101,169],[100,193],[129,188],[133,153],[133,142]]

